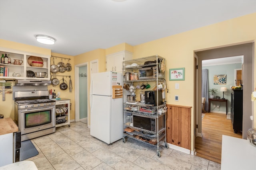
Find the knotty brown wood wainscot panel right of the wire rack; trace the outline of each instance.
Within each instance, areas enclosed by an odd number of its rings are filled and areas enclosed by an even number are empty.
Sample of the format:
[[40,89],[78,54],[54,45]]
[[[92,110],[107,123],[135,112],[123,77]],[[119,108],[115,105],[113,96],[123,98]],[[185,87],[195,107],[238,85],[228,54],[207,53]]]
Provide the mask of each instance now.
[[166,104],[166,141],[190,150],[191,107]]

